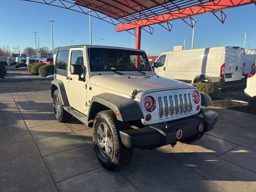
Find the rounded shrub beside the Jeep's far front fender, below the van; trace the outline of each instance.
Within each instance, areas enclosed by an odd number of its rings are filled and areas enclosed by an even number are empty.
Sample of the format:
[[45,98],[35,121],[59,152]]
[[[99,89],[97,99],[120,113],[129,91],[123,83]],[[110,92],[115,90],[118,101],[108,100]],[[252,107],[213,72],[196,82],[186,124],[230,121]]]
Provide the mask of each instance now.
[[212,100],[217,99],[221,94],[221,91],[219,88],[207,83],[194,83],[192,85],[198,88],[200,92],[207,93]]

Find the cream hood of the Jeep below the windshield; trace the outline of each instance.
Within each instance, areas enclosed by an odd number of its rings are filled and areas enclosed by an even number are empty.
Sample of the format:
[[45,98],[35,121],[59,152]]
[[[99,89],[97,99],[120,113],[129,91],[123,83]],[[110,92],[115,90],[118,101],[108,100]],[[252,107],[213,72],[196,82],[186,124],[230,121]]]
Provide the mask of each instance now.
[[195,88],[180,81],[157,76],[98,75],[90,78],[90,83],[128,95],[136,89],[136,97],[140,98],[150,92]]

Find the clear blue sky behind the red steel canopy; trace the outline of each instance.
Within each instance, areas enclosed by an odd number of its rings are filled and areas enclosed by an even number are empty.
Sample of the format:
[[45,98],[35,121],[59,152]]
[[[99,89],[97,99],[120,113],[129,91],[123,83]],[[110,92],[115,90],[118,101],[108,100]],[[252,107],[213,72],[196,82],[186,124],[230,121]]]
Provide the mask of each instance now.
[[[224,10],[227,15],[222,24],[213,14],[194,16],[196,23],[194,48],[212,46],[243,46],[244,32],[250,32],[246,39],[246,48],[256,48],[256,6],[254,4]],[[39,32],[40,46],[51,48],[51,28],[47,20],[55,20],[54,47],[74,44],[89,44],[89,16],[49,5],[21,0],[0,0],[0,45],[10,48],[20,46],[35,47],[33,31]],[[171,22],[172,31],[168,32],[159,25],[154,25],[152,35],[142,30],[141,49],[148,53],[160,54],[173,50],[173,46],[186,41],[186,49],[191,48],[192,28],[182,20]],[[92,18],[92,44],[98,45],[103,38],[103,45],[132,48],[132,35],[128,32],[115,32],[115,26]]]

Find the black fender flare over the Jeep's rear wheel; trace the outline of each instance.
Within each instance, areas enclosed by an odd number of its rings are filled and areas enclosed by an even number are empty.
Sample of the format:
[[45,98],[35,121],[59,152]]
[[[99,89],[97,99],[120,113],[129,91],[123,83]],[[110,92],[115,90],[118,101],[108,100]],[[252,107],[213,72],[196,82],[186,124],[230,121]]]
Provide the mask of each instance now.
[[53,98],[54,91],[58,89],[62,101],[62,105],[69,105],[68,96],[66,94],[65,86],[62,81],[55,79],[52,81],[51,95]]

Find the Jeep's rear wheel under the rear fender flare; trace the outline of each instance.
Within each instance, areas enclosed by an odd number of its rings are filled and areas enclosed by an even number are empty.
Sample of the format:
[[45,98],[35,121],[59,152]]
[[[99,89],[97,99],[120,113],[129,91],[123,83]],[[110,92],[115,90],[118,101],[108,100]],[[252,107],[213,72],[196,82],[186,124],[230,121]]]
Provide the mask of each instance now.
[[68,122],[72,117],[71,114],[64,110],[58,89],[53,94],[53,110],[58,122]]

